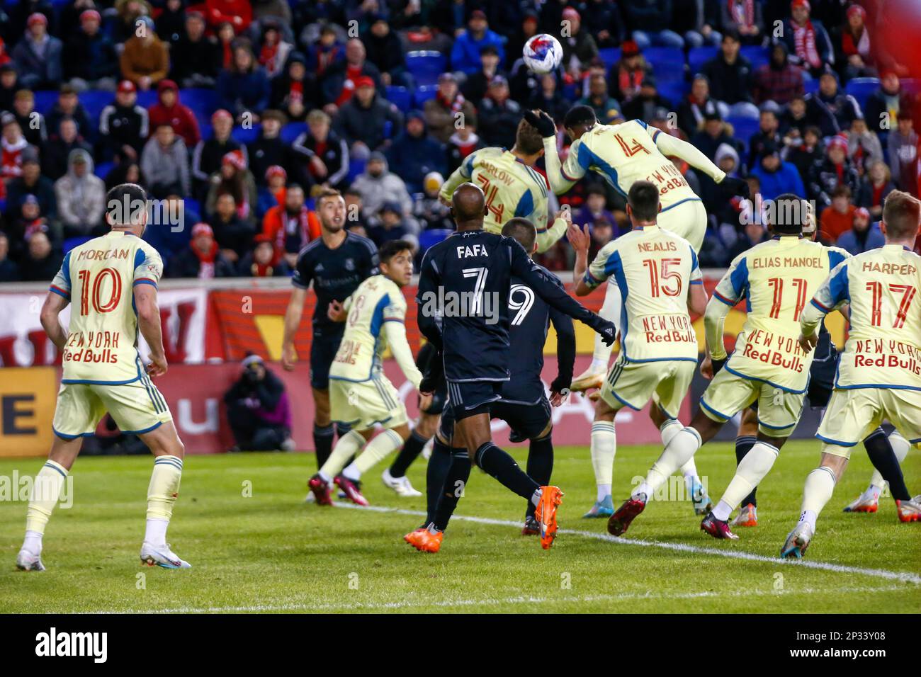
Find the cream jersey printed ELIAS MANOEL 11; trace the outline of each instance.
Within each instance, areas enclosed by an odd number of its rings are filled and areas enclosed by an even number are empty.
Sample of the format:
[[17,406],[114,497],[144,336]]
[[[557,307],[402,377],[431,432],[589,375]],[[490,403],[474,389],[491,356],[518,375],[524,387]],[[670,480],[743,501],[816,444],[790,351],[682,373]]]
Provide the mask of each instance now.
[[813,354],[799,347],[799,315],[835,265],[849,254],[797,236],[770,239],[737,256],[714,297],[748,316],[726,368],[775,388],[803,392]]

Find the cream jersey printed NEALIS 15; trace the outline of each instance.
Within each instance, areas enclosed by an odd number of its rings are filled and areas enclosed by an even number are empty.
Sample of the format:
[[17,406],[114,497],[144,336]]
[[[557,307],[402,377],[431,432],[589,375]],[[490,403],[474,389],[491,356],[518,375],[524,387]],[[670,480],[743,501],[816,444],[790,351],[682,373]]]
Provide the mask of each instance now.
[[608,278],[620,288],[621,343],[628,362],[697,361],[688,315],[689,285],[703,284],[690,243],[658,226],[635,228],[598,252],[585,274],[589,286]]

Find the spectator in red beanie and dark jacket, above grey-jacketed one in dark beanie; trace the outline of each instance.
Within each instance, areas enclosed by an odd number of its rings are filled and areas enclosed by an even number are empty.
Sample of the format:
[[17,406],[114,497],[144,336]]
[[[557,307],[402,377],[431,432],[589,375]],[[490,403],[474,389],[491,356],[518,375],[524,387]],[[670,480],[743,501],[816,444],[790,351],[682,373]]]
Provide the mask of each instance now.
[[369,152],[388,146],[402,129],[402,113],[377,93],[374,80],[361,76],[355,96],[336,112],[332,127],[353,158],[367,158]]

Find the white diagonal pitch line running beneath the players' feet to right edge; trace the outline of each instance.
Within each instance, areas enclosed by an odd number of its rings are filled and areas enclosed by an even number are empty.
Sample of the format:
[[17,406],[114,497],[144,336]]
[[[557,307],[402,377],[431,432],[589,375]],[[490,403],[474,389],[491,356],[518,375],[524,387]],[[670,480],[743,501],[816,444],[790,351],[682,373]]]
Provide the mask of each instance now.
[[[371,510],[374,512],[392,512],[398,515],[416,515],[419,517],[426,517],[425,512],[419,510],[405,510],[402,508],[386,508],[382,506],[356,506],[354,503],[342,503],[336,501],[334,503],[336,508],[354,508],[358,510]],[[463,515],[455,515],[451,519],[463,519],[468,522],[476,522],[477,524],[493,524],[501,527],[515,527],[517,529],[521,528],[521,523],[518,521],[513,521],[510,519],[491,519],[484,517],[467,517]],[[720,557],[729,557],[730,559],[746,559],[753,562],[767,562],[772,565],[784,565],[784,566],[805,566],[810,569],[823,569],[825,571],[834,571],[839,574],[861,574],[864,576],[872,576],[875,578],[886,578],[889,580],[899,580],[904,583],[915,583],[921,584],[921,576],[917,574],[912,574],[904,571],[888,571],[886,569],[869,569],[862,566],[846,566],[846,565],[835,565],[829,564],[827,562],[816,562],[815,560],[810,559],[780,559],[780,557],[766,557],[764,554],[753,554],[745,553],[739,550],[719,550],[717,548],[705,548],[697,545],[686,545],[684,543],[663,543],[661,541],[642,541],[634,539],[621,538],[620,536],[612,536],[610,533],[600,533],[599,531],[577,531],[575,529],[561,529],[557,531],[558,534],[567,534],[571,536],[583,536],[585,538],[593,538],[598,541],[607,541],[610,543],[618,543],[621,545],[642,545],[646,547],[655,547],[663,548],[665,550],[674,550],[682,553],[696,553],[696,554],[712,554]]]

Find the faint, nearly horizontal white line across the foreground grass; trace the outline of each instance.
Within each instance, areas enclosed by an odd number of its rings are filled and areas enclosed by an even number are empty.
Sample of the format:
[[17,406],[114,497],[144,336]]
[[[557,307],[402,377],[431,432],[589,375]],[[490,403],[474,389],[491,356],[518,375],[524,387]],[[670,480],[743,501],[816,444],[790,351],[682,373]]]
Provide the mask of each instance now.
[[172,609],[132,609],[130,611],[101,611],[85,613],[264,613],[264,612],[334,612],[334,611],[389,611],[393,609],[407,609],[421,607],[465,607],[465,606],[500,606],[504,604],[543,604],[547,602],[591,602],[591,601],[645,601],[645,600],[699,600],[699,599],[730,599],[744,597],[781,597],[783,595],[814,595],[814,594],[847,594],[868,592],[901,592],[903,586],[887,586],[883,588],[834,588],[834,589],[794,589],[794,590],[705,590],[701,592],[625,592],[620,595],[575,595],[565,597],[536,597],[533,595],[506,597],[495,599],[469,600],[402,600],[386,602],[361,602],[338,604],[252,604],[245,606],[210,606],[194,607],[181,606]]

